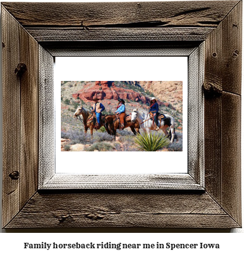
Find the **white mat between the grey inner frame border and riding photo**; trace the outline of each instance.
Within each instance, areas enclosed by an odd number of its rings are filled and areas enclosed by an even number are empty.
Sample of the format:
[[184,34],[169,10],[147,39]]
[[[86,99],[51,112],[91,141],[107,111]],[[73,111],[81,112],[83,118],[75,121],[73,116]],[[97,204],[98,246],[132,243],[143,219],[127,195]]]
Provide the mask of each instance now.
[[[104,63],[95,65],[94,63]],[[105,64],[116,63],[116,64]],[[81,72],[82,70],[82,72]],[[92,170],[93,159],[98,163],[95,173],[187,173],[187,95],[188,57],[56,57],[55,58],[55,172],[85,173]],[[67,152],[60,151],[61,130],[61,81],[183,81],[183,151],[179,152]],[[102,102],[102,101],[101,101]],[[147,110],[145,110],[147,111]],[[71,113],[71,112],[70,112]],[[170,113],[166,113],[170,115]],[[73,115],[71,113],[70,115]],[[173,115],[171,115],[173,116]],[[77,123],[83,126],[80,121]],[[140,129],[142,131],[142,129]],[[90,130],[88,129],[88,132]],[[94,130],[95,133],[95,130]],[[152,168],[151,159],[157,157],[162,165]],[[117,166],[118,159],[126,159],[126,168],[110,168],[100,165],[110,159],[111,166]],[[175,161],[177,159],[177,161]],[[78,163],[78,165],[77,165]],[[136,166],[136,168],[135,168]],[[154,166],[156,167],[156,166]],[[156,169],[156,170],[155,170]],[[88,173],[90,174],[90,172]]]

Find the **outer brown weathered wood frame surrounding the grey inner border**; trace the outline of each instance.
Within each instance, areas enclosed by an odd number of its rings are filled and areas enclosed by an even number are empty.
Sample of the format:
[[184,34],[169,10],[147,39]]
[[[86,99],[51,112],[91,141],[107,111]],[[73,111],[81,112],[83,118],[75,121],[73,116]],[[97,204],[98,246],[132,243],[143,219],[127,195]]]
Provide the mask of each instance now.
[[[240,227],[241,20],[241,1],[2,3],[2,226]],[[38,190],[38,86],[53,79],[40,59],[202,42],[204,191]]]

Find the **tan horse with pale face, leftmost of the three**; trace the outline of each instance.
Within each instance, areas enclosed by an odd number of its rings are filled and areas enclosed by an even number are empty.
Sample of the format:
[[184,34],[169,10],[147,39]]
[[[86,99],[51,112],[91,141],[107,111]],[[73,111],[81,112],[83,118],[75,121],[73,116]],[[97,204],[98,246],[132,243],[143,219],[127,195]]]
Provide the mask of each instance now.
[[[82,122],[82,119],[80,118],[80,115],[82,115],[83,117],[83,124],[84,124],[84,134],[87,135],[87,130],[88,128],[90,128],[90,135],[93,138],[93,129],[95,128],[95,123],[94,123],[94,117],[93,117],[93,113],[89,110],[87,110],[86,108],[82,107],[82,105],[80,107],[77,107],[76,112],[73,114],[77,119],[80,119]],[[101,126],[104,126],[104,118],[105,116],[102,115],[101,117]],[[105,126],[104,126],[105,127]],[[110,134],[110,130],[108,128],[106,128],[107,133]]]

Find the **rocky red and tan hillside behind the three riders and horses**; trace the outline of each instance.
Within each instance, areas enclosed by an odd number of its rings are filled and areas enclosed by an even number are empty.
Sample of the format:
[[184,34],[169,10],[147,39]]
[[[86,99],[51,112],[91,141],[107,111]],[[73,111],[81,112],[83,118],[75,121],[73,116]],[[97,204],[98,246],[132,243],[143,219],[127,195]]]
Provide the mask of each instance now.
[[127,113],[135,108],[148,111],[150,98],[156,97],[160,112],[173,116],[175,132],[182,134],[182,92],[181,81],[61,81],[61,132],[83,133],[83,124],[73,113],[80,105],[91,110],[94,97],[105,106],[104,114],[116,110],[118,99],[126,102]]

